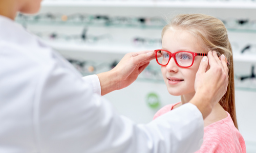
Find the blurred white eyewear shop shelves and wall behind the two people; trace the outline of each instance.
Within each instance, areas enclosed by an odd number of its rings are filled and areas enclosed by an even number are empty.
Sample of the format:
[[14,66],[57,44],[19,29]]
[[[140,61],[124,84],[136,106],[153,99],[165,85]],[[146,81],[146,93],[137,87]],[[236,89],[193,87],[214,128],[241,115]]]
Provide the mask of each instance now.
[[[236,109],[247,152],[256,152],[256,1],[254,0],[45,0],[34,16],[16,22],[43,39],[82,75],[111,70],[129,52],[161,48],[166,21],[180,13],[221,19],[233,48]],[[104,96],[136,123],[180,97],[167,92],[156,61],[129,87]]]

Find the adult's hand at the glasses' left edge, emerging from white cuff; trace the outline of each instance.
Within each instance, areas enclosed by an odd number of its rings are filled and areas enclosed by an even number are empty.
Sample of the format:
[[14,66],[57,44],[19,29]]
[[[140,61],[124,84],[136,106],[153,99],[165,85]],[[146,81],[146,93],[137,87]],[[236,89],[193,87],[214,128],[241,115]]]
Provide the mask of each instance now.
[[155,59],[153,51],[126,54],[115,68],[97,74],[101,86],[101,95],[131,85],[138,75]]

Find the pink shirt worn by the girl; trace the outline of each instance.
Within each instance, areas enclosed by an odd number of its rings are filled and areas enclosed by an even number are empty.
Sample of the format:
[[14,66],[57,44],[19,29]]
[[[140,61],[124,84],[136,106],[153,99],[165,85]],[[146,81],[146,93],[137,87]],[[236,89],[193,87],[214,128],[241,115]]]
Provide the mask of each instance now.
[[[161,108],[154,115],[153,119],[173,110],[173,107],[177,104],[167,105]],[[204,127],[204,142],[196,153],[201,152],[246,153],[244,138],[234,126],[232,118],[228,112],[226,118]]]

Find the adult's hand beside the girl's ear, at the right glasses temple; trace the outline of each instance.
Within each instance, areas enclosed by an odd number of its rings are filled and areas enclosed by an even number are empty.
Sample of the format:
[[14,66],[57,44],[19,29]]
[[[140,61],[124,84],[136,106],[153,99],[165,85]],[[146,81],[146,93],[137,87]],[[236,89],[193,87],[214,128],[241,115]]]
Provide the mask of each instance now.
[[[207,70],[207,67],[210,68]],[[195,80],[196,94],[190,103],[196,105],[206,118],[212,108],[219,103],[227,91],[228,67],[224,55],[219,57],[216,52],[208,52],[200,63]]]

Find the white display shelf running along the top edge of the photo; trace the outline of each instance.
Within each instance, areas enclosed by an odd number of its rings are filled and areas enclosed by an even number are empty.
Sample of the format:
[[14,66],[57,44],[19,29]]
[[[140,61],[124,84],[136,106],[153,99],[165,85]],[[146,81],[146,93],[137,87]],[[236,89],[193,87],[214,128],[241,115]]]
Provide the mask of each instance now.
[[43,7],[143,7],[143,8],[224,8],[255,9],[255,2],[220,1],[44,1]]

